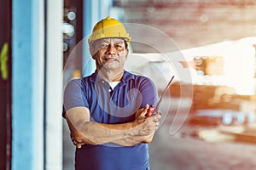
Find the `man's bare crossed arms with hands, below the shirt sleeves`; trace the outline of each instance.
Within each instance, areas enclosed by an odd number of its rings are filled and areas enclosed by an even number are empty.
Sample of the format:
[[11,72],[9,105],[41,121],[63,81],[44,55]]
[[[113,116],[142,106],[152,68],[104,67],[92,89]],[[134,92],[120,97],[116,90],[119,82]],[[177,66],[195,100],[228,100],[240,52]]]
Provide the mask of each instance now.
[[66,119],[73,139],[81,144],[136,145],[147,142],[147,136],[157,129],[154,118],[144,116],[146,111],[139,110],[142,116],[134,122],[120,124],[90,122],[89,116],[84,114],[84,108],[67,111]]

